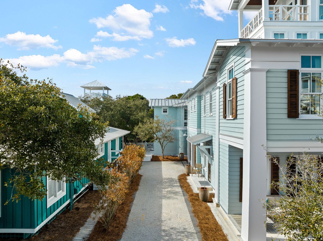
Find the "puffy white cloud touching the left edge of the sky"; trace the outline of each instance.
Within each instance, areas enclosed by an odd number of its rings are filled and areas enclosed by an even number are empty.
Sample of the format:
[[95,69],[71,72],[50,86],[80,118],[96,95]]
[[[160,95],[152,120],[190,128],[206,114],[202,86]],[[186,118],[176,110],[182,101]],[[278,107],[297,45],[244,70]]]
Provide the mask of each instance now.
[[18,46],[18,50],[29,50],[35,48],[51,48],[59,49],[62,46],[55,46],[58,40],[52,39],[51,36],[40,36],[39,34],[26,34],[24,32],[18,31],[14,34],[7,34],[5,37],[0,38],[0,42],[6,43],[8,45]]

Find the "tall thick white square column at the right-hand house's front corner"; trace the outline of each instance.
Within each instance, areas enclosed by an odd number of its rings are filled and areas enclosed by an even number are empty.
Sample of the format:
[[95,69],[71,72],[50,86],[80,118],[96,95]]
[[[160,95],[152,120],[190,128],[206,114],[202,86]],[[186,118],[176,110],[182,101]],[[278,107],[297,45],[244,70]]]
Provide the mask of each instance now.
[[241,238],[265,241],[266,210],[266,71],[247,69],[244,102],[244,149]]

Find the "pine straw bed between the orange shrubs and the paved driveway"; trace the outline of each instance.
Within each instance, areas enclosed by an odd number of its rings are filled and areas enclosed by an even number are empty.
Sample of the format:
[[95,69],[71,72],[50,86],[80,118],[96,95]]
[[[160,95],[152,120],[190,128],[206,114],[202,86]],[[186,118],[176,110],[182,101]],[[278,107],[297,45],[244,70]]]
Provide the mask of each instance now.
[[87,241],[116,241],[121,238],[126,228],[133,195],[139,188],[141,177],[142,175],[137,174],[137,177],[130,184],[129,193],[123,203],[117,208],[108,229],[105,229],[101,222],[98,221]]

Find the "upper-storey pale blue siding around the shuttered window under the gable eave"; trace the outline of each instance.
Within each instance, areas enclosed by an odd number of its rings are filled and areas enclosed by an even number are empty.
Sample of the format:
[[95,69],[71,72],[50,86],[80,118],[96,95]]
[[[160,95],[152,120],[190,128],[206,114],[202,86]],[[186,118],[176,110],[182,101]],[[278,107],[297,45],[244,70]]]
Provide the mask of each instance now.
[[[245,71],[245,47],[231,47],[224,58],[220,68],[220,134],[226,134],[243,138],[244,124],[244,74]],[[237,78],[237,118],[234,120],[223,119],[223,83],[227,81],[227,67],[234,62],[234,77]],[[227,107],[228,108],[228,107]]]

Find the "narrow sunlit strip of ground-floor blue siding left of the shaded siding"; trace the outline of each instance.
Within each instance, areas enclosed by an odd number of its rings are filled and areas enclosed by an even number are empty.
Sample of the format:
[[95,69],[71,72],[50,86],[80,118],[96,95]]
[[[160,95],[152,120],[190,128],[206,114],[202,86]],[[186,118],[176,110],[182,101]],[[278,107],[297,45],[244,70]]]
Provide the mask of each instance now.
[[228,212],[229,195],[229,145],[220,142],[220,201],[219,204]]

